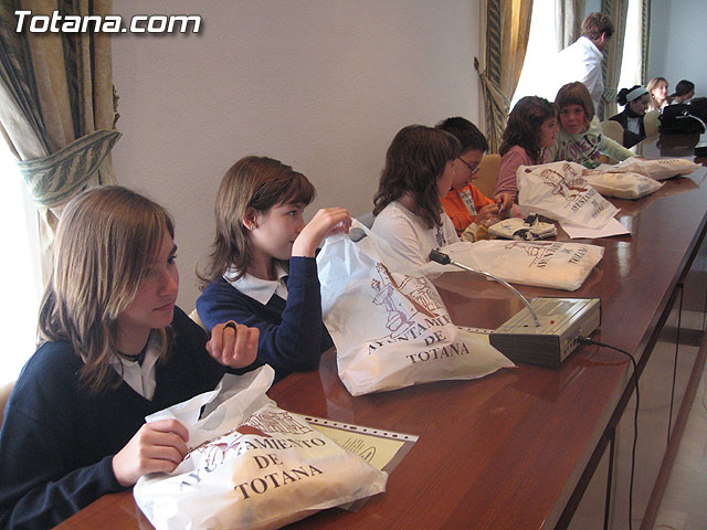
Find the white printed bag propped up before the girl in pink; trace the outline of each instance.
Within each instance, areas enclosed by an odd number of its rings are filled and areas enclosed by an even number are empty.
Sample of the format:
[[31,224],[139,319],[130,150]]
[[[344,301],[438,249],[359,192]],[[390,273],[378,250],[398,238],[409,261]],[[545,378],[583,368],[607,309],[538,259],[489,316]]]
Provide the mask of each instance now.
[[577,226],[604,226],[619,210],[589,186],[583,169],[574,162],[520,166],[516,173],[520,211]]

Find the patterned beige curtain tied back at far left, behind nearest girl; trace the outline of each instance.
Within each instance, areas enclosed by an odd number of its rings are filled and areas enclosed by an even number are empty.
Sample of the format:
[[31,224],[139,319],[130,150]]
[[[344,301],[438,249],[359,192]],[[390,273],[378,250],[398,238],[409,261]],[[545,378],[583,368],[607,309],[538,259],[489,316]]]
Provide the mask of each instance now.
[[120,135],[110,40],[93,32],[17,33],[17,10],[106,15],[112,0],[0,2],[0,132],[38,206],[46,280],[61,208],[88,186],[115,182],[109,151]]

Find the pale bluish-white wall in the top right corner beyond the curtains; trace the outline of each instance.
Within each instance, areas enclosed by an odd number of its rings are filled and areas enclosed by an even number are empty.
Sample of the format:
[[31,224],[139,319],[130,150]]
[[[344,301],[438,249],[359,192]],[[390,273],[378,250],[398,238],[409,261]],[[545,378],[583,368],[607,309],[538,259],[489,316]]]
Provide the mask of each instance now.
[[704,0],[653,0],[648,81],[665,77],[669,93],[680,80],[695,83],[695,95],[707,96],[707,11]]

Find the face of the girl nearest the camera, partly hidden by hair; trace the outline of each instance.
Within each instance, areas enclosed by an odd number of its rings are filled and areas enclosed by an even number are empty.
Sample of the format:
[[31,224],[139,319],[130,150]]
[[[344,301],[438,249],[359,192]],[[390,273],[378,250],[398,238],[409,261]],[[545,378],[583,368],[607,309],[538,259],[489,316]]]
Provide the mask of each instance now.
[[177,245],[165,231],[160,247],[140,280],[137,295],[118,315],[119,337],[141,337],[151,329],[166,328],[172,321],[179,292],[179,272],[175,263]]

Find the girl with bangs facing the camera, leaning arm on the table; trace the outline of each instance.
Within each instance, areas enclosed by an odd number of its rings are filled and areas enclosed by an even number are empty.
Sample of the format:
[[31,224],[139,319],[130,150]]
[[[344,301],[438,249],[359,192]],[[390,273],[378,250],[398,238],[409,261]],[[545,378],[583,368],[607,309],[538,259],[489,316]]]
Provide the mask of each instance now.
[[619,161],[635,156],[602,134],[589,92],[579,81],[568,83],[558,91],[555,106],[560,130],[550,148],[551,160],[568,160],[591,169],[601,163],[601,155]]

